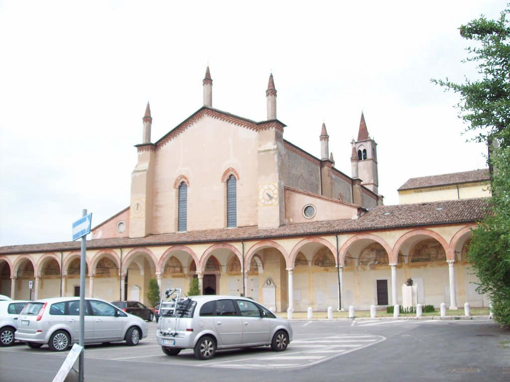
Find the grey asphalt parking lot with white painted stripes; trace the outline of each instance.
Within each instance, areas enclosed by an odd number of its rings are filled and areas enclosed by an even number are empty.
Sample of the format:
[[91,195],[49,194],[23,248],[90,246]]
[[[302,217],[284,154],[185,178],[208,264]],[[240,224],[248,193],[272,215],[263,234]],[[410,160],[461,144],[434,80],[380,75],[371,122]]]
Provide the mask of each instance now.
[[[292,327],[294,338],[284,352],[227,350],[198,361],[192,350],[175,357],[163,354],[156,322],[150,322],[148,337],[137,346],[86,346],[85,380],[174,379],[177,374],[211,382],[239,380],[240,371],[243,382],[510,380],[510,332],[489,319],[295,320]],[[66,354],[47,346],[0,348],[0,380],[52,380]]]

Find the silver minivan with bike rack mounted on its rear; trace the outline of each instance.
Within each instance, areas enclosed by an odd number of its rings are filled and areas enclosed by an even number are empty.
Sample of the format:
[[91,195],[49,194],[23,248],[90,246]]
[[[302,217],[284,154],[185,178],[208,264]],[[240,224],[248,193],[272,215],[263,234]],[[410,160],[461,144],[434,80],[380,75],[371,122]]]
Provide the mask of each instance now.
[[292,328],[250,298],[190,296],[160,316],[156,338],[167,356],[193,349],[196,358],[208,360],[216,349],[271,346],[283,351],[292,341]]

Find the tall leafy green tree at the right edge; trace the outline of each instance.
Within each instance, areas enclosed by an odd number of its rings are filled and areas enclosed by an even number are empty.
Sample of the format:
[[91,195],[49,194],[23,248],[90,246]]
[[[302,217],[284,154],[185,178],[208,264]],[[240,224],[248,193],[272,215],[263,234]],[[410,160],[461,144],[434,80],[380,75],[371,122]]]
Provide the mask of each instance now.
[[476,63],[479,78],[463,84],[432,82],[460,94],[459,117],[474,132],[473,140],[487,142],[491,173],[486,218],[473,230],[468,261],[480,280],[478,291],[488,293],[494,318],[510,325],[510,25],[504,9],[497,20],[481,16],[460,27],[473,44],[464,62]]

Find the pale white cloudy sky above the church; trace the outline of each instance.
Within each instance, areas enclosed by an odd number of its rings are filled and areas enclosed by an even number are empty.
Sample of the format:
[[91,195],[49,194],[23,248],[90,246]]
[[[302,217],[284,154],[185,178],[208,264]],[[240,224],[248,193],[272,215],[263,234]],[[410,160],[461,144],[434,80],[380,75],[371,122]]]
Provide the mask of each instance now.
[[[351,4],[356,3],[356,4]],[[411,177],[486,167],[451,92],[476,73],[457,28],[504,1],[0,0],[0,245],[70,241],[130,203],[147,101],[152,142],[202,106],[266,119],[270,72],[284,138],[350,170],[363,110],[379,193]],[[221,138],[219,138],[221,139]]]

